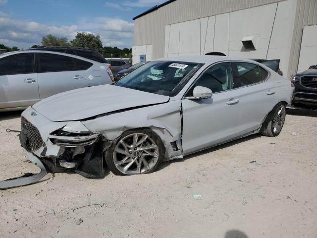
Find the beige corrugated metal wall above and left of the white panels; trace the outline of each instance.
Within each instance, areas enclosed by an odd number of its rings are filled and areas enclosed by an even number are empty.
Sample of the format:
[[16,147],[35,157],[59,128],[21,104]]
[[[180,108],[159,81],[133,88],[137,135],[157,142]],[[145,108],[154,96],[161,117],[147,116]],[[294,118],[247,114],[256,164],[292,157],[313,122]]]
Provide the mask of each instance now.
[[153,44],[153,59],[162,58],[164,57],[165,25],[277,1],[281,0],[176,0],[134,21],[133,45]]

